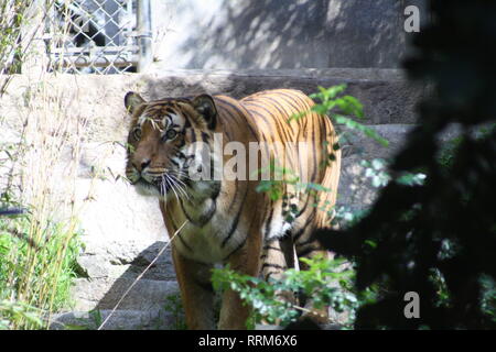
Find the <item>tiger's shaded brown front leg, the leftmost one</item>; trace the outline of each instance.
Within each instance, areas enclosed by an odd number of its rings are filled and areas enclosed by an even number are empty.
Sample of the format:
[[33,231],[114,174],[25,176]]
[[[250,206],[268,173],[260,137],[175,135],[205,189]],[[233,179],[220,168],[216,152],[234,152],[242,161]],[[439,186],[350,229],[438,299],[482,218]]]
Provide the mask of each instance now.
[[187,328],[191,330],[215,329],[214,288],[211,282],[213,265],[188,260],[174,246],[172,246],[172,257]]

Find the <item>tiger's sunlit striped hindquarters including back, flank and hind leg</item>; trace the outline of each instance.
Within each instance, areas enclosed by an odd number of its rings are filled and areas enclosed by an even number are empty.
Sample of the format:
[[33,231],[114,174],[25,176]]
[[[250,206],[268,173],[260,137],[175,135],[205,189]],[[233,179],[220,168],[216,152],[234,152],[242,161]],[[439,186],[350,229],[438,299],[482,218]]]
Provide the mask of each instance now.
[[[260,142],[280,143],[283,155],[290,155],[284,172],[300,178],[299,187],[287,184],[281,199],[269,201],[265,217],[262,275],[266,279],[280,277],[284,270],[295,266],[293,251],[298,258],[327,255],[311,234],[317,228],[330,227],[328,213],[336,201],[341,169],[337,134],[327,117],[311,111],[313,100],[298,90],[261,91],[240,103],[258,127]],[[274,147],[271,153],[281,160],[278,151]],[[305,184],[317,184],[328,191],[305,191]],[[305,264],[300,262],[299,266]]]

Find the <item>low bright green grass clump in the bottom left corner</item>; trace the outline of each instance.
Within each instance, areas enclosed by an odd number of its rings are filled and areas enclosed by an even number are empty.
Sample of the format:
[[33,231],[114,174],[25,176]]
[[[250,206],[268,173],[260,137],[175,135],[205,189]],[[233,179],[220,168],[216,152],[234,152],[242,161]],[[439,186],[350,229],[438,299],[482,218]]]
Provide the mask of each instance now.
[[47,327],[67,306],[80,243],[62,223],[0,218],[0,329]]

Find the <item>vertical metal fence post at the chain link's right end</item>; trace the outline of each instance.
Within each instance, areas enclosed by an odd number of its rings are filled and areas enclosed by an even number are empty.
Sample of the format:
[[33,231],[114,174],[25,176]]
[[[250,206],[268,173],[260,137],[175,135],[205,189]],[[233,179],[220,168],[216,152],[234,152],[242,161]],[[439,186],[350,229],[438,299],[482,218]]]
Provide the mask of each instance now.
[[150,0],[138,0],[138,72],[144,72],[152,62],[152,26]]

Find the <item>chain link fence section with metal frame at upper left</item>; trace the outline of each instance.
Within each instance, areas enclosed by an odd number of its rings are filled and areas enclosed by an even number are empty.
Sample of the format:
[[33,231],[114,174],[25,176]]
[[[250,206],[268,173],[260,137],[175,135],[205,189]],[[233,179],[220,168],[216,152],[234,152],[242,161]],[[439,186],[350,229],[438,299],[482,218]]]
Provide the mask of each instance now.
[[138,72],[151,48],[145,0],[53,0],[44,18],[48,70],[69,74]]

